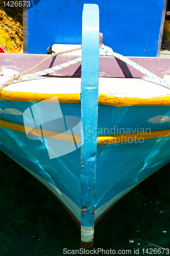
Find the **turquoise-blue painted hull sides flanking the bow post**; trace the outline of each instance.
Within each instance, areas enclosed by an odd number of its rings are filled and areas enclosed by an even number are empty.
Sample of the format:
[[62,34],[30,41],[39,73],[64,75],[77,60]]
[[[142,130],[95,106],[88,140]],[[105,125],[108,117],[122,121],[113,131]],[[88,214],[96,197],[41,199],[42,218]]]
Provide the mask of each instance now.
[[[10,106],[12,109],[17,108],[24,112],[34,104],[36,102],[2,100],[1,108],[7,109]],[[60,106],[65,116],[80,117],[80,104],[60,103]],[[137,111],[140,111],[140,122],[136,118]],[[134,116],[134,118],[129,119],[128,112],[129,116]],[[125,133],[127,129],[130,129],[130,134],[138,130],[138,133],[141,133],[140,137],[142,137],[143,130],[146,129],[151,134],[154,130],[160,130],[160,132],[168,130],[168,122],[153,124],[149,123],[148,119],[158,114],[168,115],[169,112],[169,106],[125,106],[117,108],[115,106],[99,105],[98,138],[105,136],[108,131],[114,131],[116,134],[119,129],[122,129],[122,131],[124,129]],[[6,120],[7,123],[18,123],[24,126],[22,115],[1,114],[1,118],[1,120]],[[69,209],[76,221],[80,222],[80,148],[59,158],[50,159],[44,140],[37,140],[37,135],[33,135],[34,140],[29,139],[26,133],[2,126],[0,131],[1,150],[47,186]],[[170,161],[170,137],[98,144],[97,151],[95,221],[100,219],[108,208],[133,187]]]

